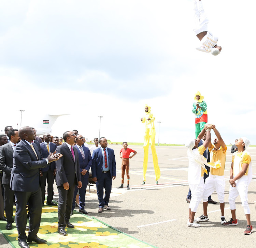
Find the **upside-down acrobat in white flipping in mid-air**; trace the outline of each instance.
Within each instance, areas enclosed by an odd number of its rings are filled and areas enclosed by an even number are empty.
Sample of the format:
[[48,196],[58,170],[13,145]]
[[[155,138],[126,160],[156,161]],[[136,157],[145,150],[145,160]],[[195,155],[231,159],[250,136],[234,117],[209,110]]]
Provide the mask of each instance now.
[[212,55],[218,55],[222,48],[221,46],[217,46],[218,37],[214,36],[210,31],[208,31],[208,17],[204,12],[202,1],[194,0],[194,19],[195,19],[195,27],[193,31],[196,36],[201,41],[201,46],[196,49],[202,52],[211,52]]

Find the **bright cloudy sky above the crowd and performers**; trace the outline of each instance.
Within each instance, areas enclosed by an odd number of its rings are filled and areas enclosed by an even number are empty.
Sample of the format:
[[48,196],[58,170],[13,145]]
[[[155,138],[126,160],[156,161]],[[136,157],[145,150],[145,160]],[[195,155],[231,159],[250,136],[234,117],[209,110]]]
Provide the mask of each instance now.
[[[255,136],[254,1],[204,0],[219,56],[197,51],[194,0],[0,1],[0,129],[59,117],[53,135],[143,142],[144,105],[160,142],[194,138],[200,91],[229,144]],[[158,123],[156,123],[158,141]],[[36,127],[38,128],[38,127]]]

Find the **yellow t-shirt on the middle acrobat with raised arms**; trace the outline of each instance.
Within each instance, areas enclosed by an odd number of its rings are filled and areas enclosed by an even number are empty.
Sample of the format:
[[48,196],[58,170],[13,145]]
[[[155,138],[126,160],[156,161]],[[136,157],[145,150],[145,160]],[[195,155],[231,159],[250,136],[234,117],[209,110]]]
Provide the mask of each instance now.
[[221,167],[218,169],[214,169],[211,167],[211,175],[215,176],[224,176],[225,163],[226,163],[226,155],[227,155],[227,146],[220,147],[218,150],[215,150],[214,145],[212,144],[209,149],[210,152],[210,162],[217,162],[221,164]]

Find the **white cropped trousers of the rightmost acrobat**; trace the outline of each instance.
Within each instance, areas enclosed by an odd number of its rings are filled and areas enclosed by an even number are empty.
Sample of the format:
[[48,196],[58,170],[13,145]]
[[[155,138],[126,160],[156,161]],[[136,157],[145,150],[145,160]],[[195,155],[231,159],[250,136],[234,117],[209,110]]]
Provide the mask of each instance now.
[[250,214],[250,208],[248,205],[248,177],[242,176],[240,179],[236,181],[237,186],[232,187],[230,185],[229,187],[229,205],[231,210],[236,209],[236,199],[238,196],[241,198],[242,206],[244,208],[245,214]]

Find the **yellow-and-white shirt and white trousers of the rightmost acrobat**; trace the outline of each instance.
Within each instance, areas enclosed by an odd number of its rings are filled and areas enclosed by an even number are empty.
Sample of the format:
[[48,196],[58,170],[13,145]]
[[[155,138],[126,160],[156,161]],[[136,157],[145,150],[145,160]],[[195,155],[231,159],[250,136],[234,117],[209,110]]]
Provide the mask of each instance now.
[[244,150],[241,153],[234,152],[232,157],[233,162],[233,176],[235,177],[243,168],[243,164],[249,164],[246,173],[238,179],[236,182],[237,186],[229,187],[229,205],[231,210],[236,209],[235,200],[238,196],[241,198],[242,206],[245,214],[250,214],[250,208],[248,205],[248,185],[252,180],[252,158],[250,153]]

